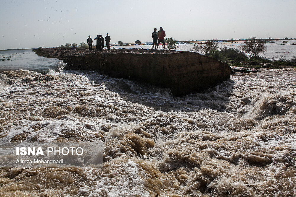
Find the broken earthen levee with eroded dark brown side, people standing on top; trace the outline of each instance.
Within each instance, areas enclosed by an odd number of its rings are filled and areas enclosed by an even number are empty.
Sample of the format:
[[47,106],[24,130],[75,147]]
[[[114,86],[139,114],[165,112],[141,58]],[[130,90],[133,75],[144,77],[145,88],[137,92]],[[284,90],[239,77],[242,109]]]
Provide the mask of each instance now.
[[70,69],[98,70],[112,77],[133,79],[170,88],[179,96],[229,79],[231,68],[213,58],[188,51],[149,49],[33,49],[37,55],[58,58]]

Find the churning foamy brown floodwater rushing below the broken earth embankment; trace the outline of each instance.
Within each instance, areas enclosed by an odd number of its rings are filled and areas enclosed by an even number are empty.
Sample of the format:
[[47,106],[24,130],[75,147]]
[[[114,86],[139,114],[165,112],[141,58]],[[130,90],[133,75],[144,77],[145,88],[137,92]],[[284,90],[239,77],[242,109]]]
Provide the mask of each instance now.
[[0,168],[0,196],[296,193],[295,68],[183,97],[96,71],[10,70],[0,81],[1,144],[104,143],[101,168]]

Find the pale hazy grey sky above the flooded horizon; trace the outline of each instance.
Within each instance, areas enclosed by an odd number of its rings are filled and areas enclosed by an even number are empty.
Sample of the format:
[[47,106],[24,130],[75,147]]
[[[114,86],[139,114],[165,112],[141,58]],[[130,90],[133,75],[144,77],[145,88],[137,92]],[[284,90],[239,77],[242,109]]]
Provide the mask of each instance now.
[[295,0],[0,0],[0,49],[86,42],[152,42],[156,27],[176,40],[295,38]]

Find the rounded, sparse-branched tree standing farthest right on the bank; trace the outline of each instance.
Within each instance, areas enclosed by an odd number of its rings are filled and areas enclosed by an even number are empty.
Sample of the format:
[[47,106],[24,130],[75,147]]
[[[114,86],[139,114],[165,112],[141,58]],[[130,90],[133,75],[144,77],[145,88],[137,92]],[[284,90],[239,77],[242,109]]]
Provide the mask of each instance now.
[[244,41],[244,43],[239,46],[239,49],[247,53],[250,59],[259,58],[260,53],[266,51],[266,44],[264,41],[252,37],[249,40]]

